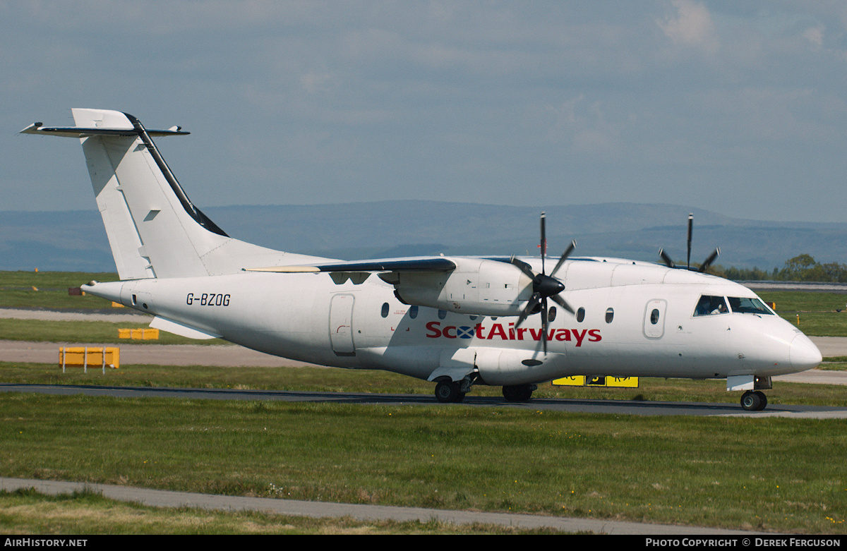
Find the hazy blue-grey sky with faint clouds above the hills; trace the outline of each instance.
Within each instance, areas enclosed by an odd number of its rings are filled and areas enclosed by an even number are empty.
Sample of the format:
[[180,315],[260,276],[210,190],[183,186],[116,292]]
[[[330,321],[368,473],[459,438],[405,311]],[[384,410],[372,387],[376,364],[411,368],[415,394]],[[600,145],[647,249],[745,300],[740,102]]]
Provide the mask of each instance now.
[[71,107],[199,207],[669,203],[847,222],[847,3],[0,3],[3,210],[93,209]]

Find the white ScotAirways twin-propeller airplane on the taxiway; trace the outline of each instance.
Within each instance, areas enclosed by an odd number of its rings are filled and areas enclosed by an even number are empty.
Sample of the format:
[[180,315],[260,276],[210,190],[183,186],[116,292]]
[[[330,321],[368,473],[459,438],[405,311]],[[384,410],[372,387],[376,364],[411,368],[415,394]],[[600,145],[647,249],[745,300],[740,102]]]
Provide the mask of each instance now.
[[[150,326],[291,360],[397,372],[460,402],[473,386],[531,399],[574,375],[726,379],[762,410],[772,377],[822,361],[811,340],[743,285],[700,269],[572,256],[340,261],[235,240],[192,203],[130,114],[72,109],[120,281],[86,293],[153,315]],[[689,222],[690,235],[690,222]],[[690,244],[690,239],[689,239]],[[690,245],[689,245],[690,247]],[[689,252],[690,256],[690,252]]]

